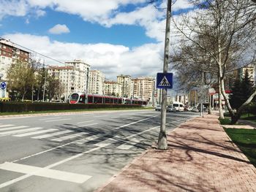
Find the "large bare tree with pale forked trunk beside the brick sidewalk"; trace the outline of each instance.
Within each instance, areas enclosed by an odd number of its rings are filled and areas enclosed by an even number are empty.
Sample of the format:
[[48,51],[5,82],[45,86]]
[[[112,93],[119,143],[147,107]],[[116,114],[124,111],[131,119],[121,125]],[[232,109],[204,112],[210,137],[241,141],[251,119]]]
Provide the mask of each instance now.
[[[236,122],[246,104],[249,104],[256,95],[256,91],[235,113],[225,93],[225,78],[227,72],[237,66],[246,66],[255,62],[256,5],[246,0],[192,2],[198,8],[195,14],[183,15],[174,23],[186,39],[211,55],[211,64],[217,66],[219,93],[225,99],[233,122]],[[219,110],[220,118],[224,118],[221,107]]]

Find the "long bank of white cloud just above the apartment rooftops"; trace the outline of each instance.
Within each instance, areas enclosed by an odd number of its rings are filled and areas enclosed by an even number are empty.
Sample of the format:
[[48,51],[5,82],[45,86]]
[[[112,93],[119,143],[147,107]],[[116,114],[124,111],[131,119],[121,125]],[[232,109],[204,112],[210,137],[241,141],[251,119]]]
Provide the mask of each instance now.
[[[49,37],[31,34],[7,34],[4,38],[11,39],[19,45],[55,58],[58,61],[82,59],[99,69],[107,78],[116,80],[118,74],[130,74],[132,77],[153,76],[162,71],[163,45],[146,44],[129,49],[123,45],[111,44],[78,44],[50,41]],[[41,55],[36,55],[42,58]],[[55,61],[45,58],[45,64],[57,65]]]

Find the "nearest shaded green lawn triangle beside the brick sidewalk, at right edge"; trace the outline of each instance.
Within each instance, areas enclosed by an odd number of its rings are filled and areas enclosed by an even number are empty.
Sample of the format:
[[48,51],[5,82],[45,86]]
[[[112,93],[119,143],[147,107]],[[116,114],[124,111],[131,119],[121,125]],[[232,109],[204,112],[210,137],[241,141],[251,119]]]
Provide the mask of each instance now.
[[256,130],[245,128],[224,128],[227,135],[256,167]]

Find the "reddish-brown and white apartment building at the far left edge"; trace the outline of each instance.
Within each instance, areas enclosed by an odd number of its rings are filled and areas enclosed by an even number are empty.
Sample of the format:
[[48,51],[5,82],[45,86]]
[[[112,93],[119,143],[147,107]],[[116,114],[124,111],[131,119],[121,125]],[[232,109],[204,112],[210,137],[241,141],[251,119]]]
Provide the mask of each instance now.
[[29,62],[30,53],[20,49],[6,39],[0,39],[0,74],[1,80],[7,80],[7,72],[12,64],[18,61]]

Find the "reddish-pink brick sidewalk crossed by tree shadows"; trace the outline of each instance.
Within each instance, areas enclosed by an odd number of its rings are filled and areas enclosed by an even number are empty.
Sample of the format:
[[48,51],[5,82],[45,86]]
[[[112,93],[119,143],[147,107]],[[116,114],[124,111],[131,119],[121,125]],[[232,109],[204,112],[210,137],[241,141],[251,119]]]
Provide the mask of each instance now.
[[168,150],[146,150],[97,191],[256,191],[256,169],[230,142],[217,115],[167,134]]

